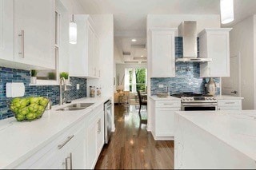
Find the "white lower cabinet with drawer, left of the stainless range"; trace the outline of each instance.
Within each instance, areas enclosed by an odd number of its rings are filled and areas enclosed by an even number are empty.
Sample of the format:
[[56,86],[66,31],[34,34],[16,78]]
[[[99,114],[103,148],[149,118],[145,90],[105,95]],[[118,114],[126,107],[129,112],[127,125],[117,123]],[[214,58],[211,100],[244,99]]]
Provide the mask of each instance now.
[[181,101],[154,101],[152,134],[154,140],[174,140],[174,114],[181,110]]

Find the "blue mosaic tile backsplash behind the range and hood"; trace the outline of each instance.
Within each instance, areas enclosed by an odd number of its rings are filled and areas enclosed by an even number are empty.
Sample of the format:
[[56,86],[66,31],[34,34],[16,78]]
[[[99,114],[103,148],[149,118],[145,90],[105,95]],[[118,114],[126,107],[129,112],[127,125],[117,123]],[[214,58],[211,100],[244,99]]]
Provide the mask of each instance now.
[[[183,55],[182,38],[175,38],[175,57],[179,58]],[[198,56],[199,56],[199,38],[198,38]],[[194,92],[205,93],[205,84],[209,78],[200,77],[199,63],[176,63],[176,76],[168,78],[151,78],[151,95],[166,92],[165,88],[158,88],[158,85],[168,85],[170,94]],[[214,78],[215,83],[220,82],[220,78]],[[216,94],[220,94],[220,89],[217,88]]]

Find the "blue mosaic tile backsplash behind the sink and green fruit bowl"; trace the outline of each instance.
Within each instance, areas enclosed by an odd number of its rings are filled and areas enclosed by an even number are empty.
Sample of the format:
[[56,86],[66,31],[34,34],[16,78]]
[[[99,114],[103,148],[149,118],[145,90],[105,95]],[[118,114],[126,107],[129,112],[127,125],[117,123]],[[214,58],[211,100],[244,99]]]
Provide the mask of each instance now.
[[[6,101],[11,100],[11,98],[6,97],[7,82],[23,82],[25,97],[48,97],[53,105],[57,105],[59,102],[58,85],[30,86],[30,71],[0,67],[0,120],[14,116],[6,105]],[[65,93],[67,99],[74,100],[86,97],[86,79],[70,77],[70,84],[71,86],[68,86],[68,91]],[[77,84],[80,85],[78,90],[76,89]]]

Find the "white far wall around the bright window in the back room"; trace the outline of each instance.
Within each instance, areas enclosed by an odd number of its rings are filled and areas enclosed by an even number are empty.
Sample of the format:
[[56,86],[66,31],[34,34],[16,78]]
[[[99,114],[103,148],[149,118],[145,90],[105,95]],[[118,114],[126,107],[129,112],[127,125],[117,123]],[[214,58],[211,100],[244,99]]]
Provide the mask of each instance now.
[[[146,64],[117,64],[116,65],[116,83],[118,85],[118,75],[119,83],[121,84],[122,77],[125,75],[125,69],[146,69]],[[124,89],[124,80],[122,81],[122,89]]]

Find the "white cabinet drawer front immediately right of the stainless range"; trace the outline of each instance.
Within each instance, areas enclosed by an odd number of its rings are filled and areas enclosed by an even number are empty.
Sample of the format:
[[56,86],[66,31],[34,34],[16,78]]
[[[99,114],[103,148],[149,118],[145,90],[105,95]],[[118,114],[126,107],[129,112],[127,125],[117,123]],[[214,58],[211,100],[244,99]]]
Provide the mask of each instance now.
[[242,110],[242,100],[218,100],[218,110]]

